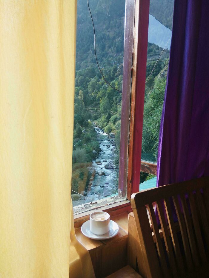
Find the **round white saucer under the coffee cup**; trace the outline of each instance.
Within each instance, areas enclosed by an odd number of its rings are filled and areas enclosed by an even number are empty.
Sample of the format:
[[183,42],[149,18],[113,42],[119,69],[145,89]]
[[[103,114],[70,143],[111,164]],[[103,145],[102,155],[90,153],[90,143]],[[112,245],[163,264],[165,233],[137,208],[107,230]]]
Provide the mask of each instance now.
[[93,234],[89,229],[89,221],[90,220],[87,220],[86,222],[83,223],[83,225],[81,226],[81,232],[86,237],[89,237],[91,239],[96,239],[96,240],[109,239],[116,236],[116,234],[119,231],[118,224],[115,223],[113,220],[110,220],[110,231],[107,234],[101,234],[101,235]]

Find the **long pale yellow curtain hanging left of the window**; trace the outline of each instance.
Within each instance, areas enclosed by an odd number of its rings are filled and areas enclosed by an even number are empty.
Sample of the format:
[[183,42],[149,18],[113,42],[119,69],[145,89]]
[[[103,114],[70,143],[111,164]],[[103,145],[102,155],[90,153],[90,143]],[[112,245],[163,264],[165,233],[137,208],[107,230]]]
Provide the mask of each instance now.
[[70,198],[75,34],[76,0],[0,0],[2,278],[94,277]]

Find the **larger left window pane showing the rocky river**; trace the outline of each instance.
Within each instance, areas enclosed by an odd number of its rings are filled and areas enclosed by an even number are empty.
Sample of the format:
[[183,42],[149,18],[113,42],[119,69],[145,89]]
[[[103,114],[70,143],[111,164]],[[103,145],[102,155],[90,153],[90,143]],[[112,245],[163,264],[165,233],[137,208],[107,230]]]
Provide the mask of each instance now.
[[[102,3],[102,4],[101,4]],[[78,0],[72,202],[116,200],[119,177],[125,0]],[[133,18],[132,18],[133,20]]]

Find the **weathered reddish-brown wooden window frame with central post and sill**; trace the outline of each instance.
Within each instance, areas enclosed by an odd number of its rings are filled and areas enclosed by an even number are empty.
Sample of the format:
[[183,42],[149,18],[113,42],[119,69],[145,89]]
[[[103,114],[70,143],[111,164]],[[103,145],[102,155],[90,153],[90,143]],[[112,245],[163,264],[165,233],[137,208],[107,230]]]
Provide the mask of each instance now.
[[[130,197],[139,191],[140,170],[156,174],[156,164],[141,160],[149,6],[150,0],[126,0],[118,189],[126,201],[102,207],[110,216],[131,211]],[[91,212],[75,215],[75,226],[89,219]]]

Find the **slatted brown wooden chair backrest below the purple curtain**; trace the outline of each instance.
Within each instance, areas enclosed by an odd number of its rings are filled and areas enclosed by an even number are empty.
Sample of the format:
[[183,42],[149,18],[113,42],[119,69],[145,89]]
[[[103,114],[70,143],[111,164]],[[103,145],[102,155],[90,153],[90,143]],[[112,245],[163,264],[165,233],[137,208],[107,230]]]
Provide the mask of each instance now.
[[132,194],[131,206],[143,258],[138,264],[143,264],[146,277],[205,275],[209,251],[208,177]]

